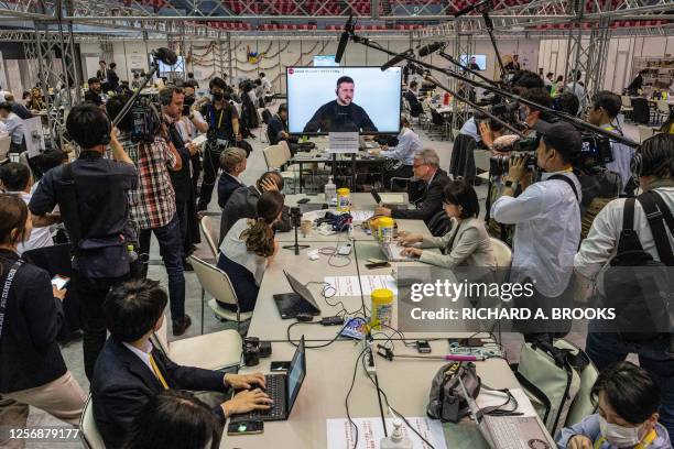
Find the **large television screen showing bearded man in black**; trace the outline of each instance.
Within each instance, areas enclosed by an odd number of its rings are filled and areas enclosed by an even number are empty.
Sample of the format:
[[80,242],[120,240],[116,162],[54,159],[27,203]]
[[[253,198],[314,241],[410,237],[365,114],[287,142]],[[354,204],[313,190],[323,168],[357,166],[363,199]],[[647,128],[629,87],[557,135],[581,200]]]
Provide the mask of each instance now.
[[287,67],[286,83],[291,133],[400,132],[401,67]]

